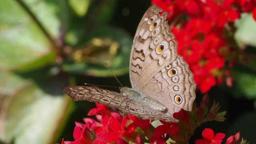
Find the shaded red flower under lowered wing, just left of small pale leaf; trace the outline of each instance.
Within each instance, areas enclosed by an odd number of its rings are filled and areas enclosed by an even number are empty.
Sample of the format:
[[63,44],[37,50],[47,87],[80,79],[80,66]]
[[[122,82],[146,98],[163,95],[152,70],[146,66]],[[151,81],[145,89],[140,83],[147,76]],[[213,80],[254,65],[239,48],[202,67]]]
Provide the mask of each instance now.
[[128,133],[134,132],[134,130],[139,126],[142,129],[146,129],[150,126],[150,120],[142,120],[140,118],[137,118],[136,116],[131,116],[130,114],[127,114],[128,118],[133,121],[133,123],[129,124],[127,127]]

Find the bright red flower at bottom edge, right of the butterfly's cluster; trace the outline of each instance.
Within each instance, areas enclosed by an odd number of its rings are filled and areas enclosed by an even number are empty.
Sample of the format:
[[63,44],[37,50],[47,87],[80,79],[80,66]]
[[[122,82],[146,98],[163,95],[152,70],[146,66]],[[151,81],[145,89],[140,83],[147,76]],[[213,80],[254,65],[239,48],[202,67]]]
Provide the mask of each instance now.
[[214,135],[212,129],[206,128],[202,132],[202,137],[204,139],[196,140],[196,144],[221,144],[222,139],[225,137],[225,134],[217,133]]

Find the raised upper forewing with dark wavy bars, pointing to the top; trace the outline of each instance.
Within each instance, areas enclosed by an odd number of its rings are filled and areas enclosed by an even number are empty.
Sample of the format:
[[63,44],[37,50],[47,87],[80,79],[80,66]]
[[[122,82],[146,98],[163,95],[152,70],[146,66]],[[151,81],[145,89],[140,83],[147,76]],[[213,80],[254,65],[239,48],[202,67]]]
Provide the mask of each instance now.
[[156,5],[145,12],[133,40],[130,55],[130,81],[140,90],[160,69],[177,58],[177,42],[170,32],[168,12]]

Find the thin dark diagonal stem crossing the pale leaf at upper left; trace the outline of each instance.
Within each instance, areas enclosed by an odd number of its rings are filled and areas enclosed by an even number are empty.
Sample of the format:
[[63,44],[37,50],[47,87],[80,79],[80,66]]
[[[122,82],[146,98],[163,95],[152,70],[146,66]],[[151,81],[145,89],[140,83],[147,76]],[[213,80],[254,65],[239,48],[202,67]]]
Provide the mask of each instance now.
[[44,26],[42,25],[41,22],[39,22],[39,20],[36,18],[36,16],[33,14],[33,12],[29,9],[29,7],[22,2],[22,0],[16,0],[16,2],[18,4],[20,4],[20,6],[28,13],[28,15],[30,16],[30,18],[32,18],[32,20],[34,20],[34,22],[38,25],[38,27],[42,30],[42,32],[44,33],[44,35],[46,36],[46,38],[51,42],[52,44],[52,49],[56,52],[58,52],[59,46],[56,44],[55,40],[50,36],[50,34],[46,31],[46,29],[44,28]]

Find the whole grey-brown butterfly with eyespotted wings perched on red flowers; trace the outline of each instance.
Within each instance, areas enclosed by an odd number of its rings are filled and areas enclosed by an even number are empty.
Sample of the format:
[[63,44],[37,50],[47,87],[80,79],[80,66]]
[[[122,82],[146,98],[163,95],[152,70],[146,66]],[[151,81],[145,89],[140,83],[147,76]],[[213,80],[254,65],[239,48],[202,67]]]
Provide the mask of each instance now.
[[136,31],[130,55],[132,88],[121,87],[120,94],[89,86],[62,89],[75,101],[87,100],[142,119],[178,122],[180,109],[192,110],[196,84],[188,64],[177,54],[177,41],[166,21],[168,12],[150,6]]

